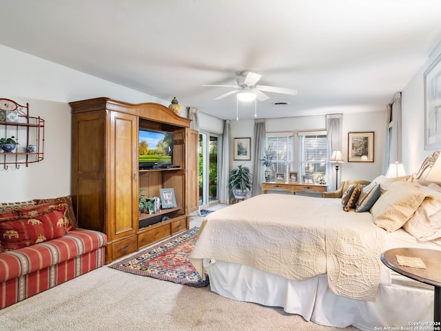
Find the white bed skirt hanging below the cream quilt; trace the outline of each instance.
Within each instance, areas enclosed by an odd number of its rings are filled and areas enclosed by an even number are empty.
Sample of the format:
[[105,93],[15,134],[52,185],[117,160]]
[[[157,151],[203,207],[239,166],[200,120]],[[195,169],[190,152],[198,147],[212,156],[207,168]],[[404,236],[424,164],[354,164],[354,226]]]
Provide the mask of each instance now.
[[[376,301],[361,301],[332,293],[326,274],[293,281],[247,265],[209,260],[204,264],[213,292],[238,301],[282,307],[320,325],[353,325],[371,331],[433,321],[433,287],[380,283]],[[247,290],[250,288],[253,291]]]

